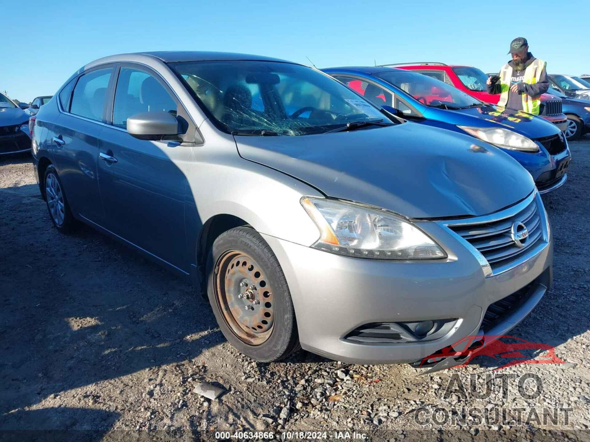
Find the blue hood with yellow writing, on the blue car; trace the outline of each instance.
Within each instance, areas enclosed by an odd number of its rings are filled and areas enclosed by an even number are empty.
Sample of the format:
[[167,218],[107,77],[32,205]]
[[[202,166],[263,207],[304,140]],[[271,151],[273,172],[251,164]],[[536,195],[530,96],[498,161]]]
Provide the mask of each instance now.
[[519,114],[518,111],[511,109],[503,109],[500,112],[499,107],[489,105],[457,110],[431,107],[424,112],[424,117],[463,126],[505,127],[529,138],[549,137],[559,133],[555,124],[549,123],[543,118]]

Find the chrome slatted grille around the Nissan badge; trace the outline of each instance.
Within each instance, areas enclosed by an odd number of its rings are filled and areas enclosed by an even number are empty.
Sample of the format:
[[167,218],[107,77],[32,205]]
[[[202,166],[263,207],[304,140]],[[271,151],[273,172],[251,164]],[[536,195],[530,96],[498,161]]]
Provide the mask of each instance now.
[[[491,268],[492,275],[501,273],[537,245],[545,242],[543,237],[542,207],[537,197],[528,198],[525,207],[516,213],[494,219],[486,217],[482,222],[449,223],[447,227],[466,240],[483,256]],[[522,204],[522,203],[521,203]],[[518,246],[511,237],[512,226],[521,222],[526,226],[528,237],[524,246]],[[488,275],[490,276],[490,275]]]

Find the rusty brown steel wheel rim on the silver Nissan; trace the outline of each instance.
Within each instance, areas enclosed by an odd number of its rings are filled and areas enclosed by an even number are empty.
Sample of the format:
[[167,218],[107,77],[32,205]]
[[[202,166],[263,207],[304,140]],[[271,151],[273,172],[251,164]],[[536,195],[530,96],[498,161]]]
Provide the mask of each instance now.
[[270,338],[273,290],[255,259],[240,250],[223,253],[215,266],[214,289],[225,323],[241,341],[260,345]]

